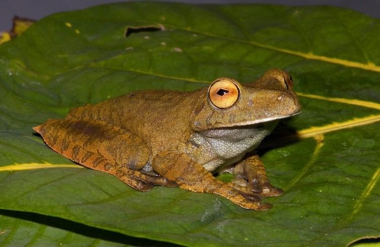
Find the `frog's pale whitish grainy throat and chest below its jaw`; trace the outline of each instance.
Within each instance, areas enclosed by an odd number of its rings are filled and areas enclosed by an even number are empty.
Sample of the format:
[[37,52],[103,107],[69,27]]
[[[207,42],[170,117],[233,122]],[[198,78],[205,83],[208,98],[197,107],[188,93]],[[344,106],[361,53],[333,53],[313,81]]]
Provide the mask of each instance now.
[[[194,133],[186,153],[208,171],[233,164],[254,150],[275,124],[264,127],[210,129]],[[200,155],[201,154],[201,155]]]

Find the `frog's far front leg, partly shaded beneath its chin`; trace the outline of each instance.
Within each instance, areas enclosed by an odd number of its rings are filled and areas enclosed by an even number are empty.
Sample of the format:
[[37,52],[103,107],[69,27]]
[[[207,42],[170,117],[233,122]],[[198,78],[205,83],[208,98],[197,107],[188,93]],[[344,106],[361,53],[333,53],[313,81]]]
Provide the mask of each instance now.
[[235,166],[234,174],[237,182],[245,180],[248,190],[260,194],[262,198],[279,196],[284,193],[283,190],[271,185],[264,165],[258,155],[251,155],[239,162]]

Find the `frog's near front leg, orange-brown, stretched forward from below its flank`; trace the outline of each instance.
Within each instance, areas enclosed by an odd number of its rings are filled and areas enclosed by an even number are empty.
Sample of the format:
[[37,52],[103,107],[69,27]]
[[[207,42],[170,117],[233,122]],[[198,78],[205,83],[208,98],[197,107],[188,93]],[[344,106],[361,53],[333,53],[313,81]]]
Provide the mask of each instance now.
[[185,153],[161,152],[154,158],[152,166],[162,177],[175,181],[182,189],[218,194],[247,209],[266,210],[272,207],[270,203],[260,202],[253,194],[238,190],[232,183],[223,183],[215,179],[201,164],[193,161]]

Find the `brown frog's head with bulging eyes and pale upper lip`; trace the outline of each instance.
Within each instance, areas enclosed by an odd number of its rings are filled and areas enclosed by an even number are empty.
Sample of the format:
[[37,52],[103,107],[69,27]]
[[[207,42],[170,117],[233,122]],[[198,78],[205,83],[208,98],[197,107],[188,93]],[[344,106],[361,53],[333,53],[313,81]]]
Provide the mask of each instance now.
[[301,107],[292,86],[290,75],[280,69],[270,69],[245,85],[230,78],[216,79],[206,100],[199,101],[194,110],[193,128],[256,125],[297,115]]

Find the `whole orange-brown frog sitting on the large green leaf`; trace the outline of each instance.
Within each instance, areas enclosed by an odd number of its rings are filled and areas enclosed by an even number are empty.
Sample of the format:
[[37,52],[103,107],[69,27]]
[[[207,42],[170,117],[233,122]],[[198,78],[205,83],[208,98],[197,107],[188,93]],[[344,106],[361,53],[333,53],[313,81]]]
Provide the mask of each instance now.
[[[300,112],[291,76],[273,68],[251,83],[218,78],[194,91],[129,92],[33,129],[57,153],[138,191],[179,187],[267,210],[272,204],[262,199],[283,191],[270,183],[256,148]],[[235,179],[218,180],[221,171]]]

